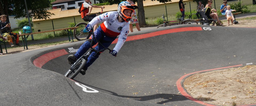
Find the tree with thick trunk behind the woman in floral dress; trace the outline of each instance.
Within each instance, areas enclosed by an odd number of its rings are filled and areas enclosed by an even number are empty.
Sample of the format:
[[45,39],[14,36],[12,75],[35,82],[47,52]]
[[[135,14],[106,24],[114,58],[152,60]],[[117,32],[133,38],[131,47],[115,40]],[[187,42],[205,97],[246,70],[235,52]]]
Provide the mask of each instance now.
[[[106,0],[106,1],[109,2],[110,5],[119,4],[120,2],[122,2],[121,0]],[[137,2],[138,3],[137,4],[137,6],[138,6],[138,13],[137,14],[139,15],[139,25],[140,26],[146,25],[143,1],[145,1],[145,0],[133,0],[133,2]],[[155,0],[151,0],[151,1],[155,1]],[[157,1],[159,1],[160,3],[171,2],[171,0],[157,0]]]

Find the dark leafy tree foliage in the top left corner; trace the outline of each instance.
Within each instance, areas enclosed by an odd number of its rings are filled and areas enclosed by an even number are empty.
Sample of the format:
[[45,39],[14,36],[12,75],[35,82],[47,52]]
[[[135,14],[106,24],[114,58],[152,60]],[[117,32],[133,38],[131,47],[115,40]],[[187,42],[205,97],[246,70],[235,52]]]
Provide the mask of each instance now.
[[[54,15],[47,12],[46,8],[51,7],[49,0],[26,0],[27,8],[29,10],[29,16],[35,19],[47,19],[49,16]],[[11,8],[11,9],[9,9]],[[1,0],[0,1],[1,14],[7,15],[7,21],[9,15],[15,15],[14,18],[26,17],[26,7],[24,0]]]

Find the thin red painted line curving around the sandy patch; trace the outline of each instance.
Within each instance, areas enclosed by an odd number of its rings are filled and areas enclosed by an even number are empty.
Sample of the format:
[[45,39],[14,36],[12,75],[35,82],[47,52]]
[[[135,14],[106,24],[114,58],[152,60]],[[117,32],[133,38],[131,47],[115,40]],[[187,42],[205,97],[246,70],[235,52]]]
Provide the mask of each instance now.
[[[187,92],[181,86],[182,85],[181,81],[183,80],[183,78],[185,78],[186,76],[189,76],[191,74],[200,73],[200,72],[206,72],[206,71],[211,71],[211,70],[224,69],[224,68],[238,67],[238,66],[242,66],[242,64],[234,65],[234,66],[229,66],[229,67],[214,68],[214,69],[208,69],[208,70],[202,70],[202,71],[197,71],[197,72],[189,73],[189,74],[186,74],[186,75],[182,76],[181,78],[179,78],[179,80],[177,80],[177,82],[176,82],[176,85],[177,85],[178,90],[181,92],[181,94],[183,96],[185,96],[187,99],[190,99],[190,100],[192,100],[194,102],[197,102],[197,103],[200,103],[200,104],[206,105],[206,106],[216,106],[216,105],[213,105],[213,104],[208,104],[208,103],[205,103],[203,101],[197,100],[197,99],[193,98],[192,96],[190,96],[189,94],[187,94]],[[249,105],[255,105],[255,104],[249,104]],[[240,105],[240,106],[249,106],[249,105]]]

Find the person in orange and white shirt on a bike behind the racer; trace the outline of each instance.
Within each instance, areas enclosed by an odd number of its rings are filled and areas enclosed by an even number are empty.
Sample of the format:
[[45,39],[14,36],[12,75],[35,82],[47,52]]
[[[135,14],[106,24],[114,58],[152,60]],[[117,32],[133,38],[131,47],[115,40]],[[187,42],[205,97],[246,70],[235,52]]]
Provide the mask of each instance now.
[[[96,5],[92,5],[90,4],[90,0],[85,0],[85,2],[82,4],[81,6],[81,17],[84,21],[91,21],[93,20],[94,17],[96,17],[96,14],[93,14],[93,15],[90,15],[91,14],[91,10],[93,8],[105,8],[104,6],[96,6]],[[94,31],[95,29],[98,27],[98,25],[95,25],[93,28],[94,28]]]

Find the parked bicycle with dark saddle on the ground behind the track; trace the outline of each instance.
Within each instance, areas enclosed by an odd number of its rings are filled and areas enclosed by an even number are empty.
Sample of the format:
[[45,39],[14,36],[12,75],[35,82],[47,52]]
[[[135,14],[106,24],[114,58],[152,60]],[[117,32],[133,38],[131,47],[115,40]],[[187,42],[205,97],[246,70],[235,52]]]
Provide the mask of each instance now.
[[[191,19],[184,20],[183,17],[177,19],[177,21],[167,21],[167,20],[165,20],[164,15],[162,16],[162,18],[163,18],[163,24],[159,25],[157,28],[172,26],[172,25],[180,25],[180,24],[198,24],[197,21],[195,21],[195,20],[191,20]],[[178,24],[173,24],[173,22],[179,22],[179,23]]]

